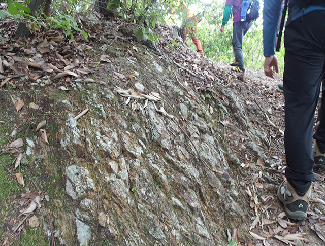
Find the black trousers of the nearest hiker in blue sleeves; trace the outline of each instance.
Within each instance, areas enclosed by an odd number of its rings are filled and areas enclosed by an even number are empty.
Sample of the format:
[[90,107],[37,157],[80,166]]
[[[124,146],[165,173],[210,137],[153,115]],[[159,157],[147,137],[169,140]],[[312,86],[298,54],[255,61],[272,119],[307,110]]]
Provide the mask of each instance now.
[[[285,176],[299,181],[315,180],[313,123],[325,71],[325,25],[321,23],[325,23],[325,11],[313,11],[291,22],[284,32]],[[324,97],[321,111],[325,112]],[[314,138],[325,152],[324,113],[319,120]]]

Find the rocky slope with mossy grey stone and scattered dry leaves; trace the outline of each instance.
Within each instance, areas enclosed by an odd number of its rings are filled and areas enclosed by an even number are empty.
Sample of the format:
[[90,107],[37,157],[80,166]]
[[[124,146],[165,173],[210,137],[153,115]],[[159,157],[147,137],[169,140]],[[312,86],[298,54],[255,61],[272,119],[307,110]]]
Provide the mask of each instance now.
[[155,45],[119,20],[78,18],[88,41],[12,40],[3,24],[2,245],[322,244],[323,174],[308,221],[276,198],[276,81],[198,57],[170,27]]

